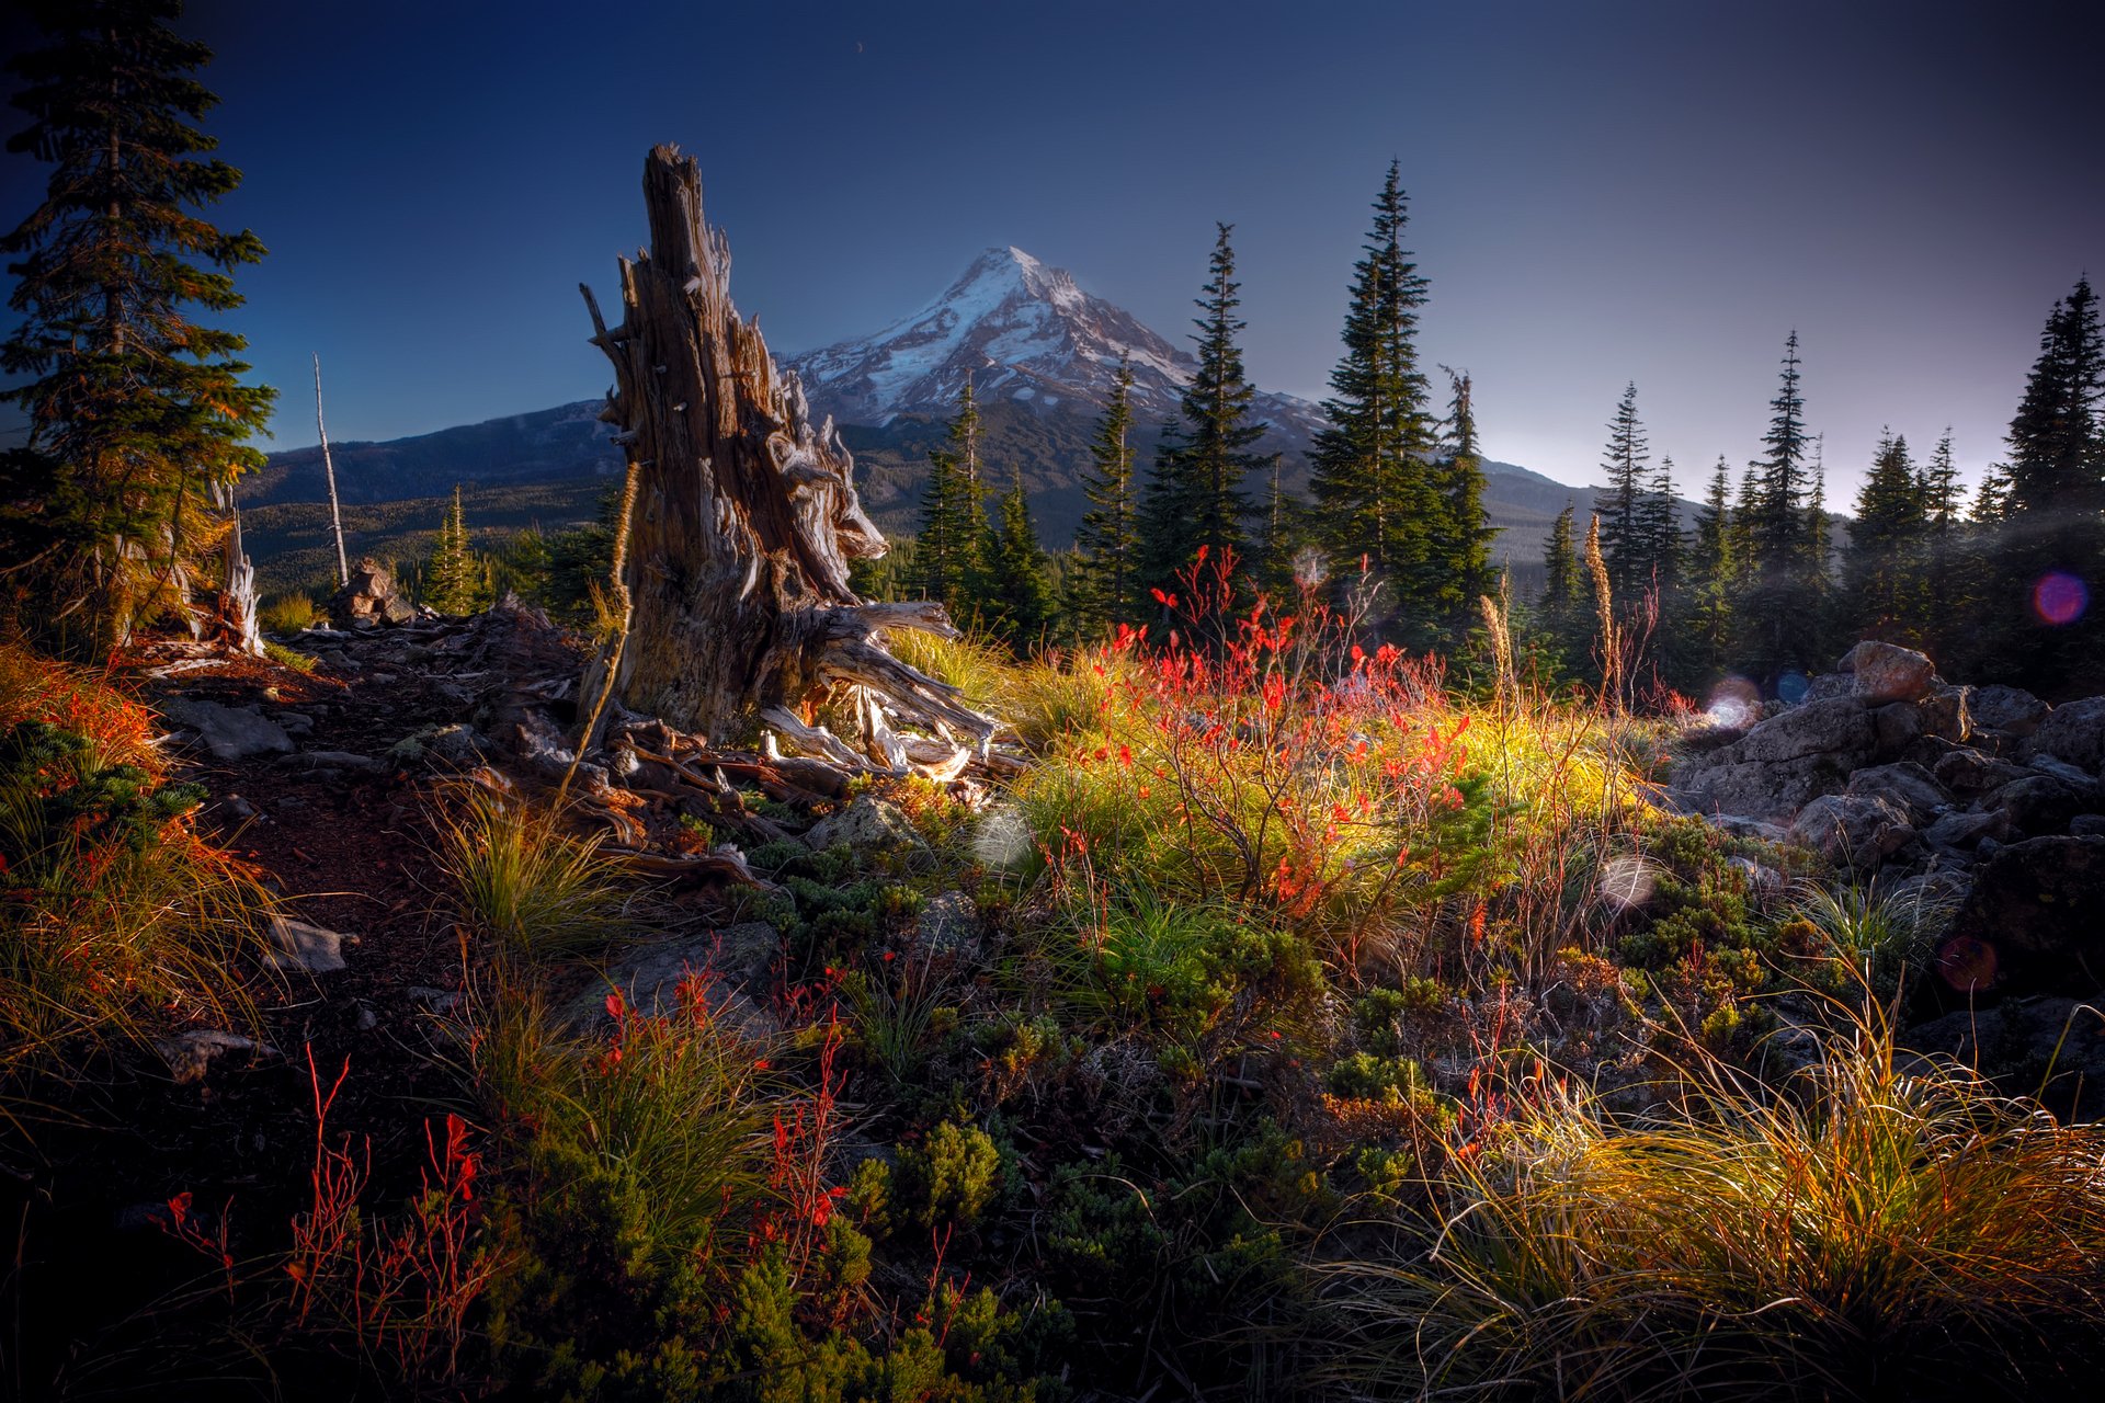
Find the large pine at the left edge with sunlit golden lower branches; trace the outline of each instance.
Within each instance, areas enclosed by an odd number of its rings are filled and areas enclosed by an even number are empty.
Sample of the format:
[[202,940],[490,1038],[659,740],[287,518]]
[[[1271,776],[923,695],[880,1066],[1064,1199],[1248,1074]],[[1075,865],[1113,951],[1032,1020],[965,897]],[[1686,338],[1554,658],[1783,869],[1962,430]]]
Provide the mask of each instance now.
[[23,377],[0,398],[29,421],[0,467],[0,547],[23,623],[93,652],[160,612],[196,623],[189,581],[217,534],[208,503],[263,463],[244,440],[274,391],[242,383],[242,337],[192,320],[242,305],[232,271],[263,244],[194,212],[242,177],[200,160],[217,141],[194,124],[219,99],[189,76],[210,50],[168,29],[181,6],[32,8],[51,46],[8,63],[29,126],[6,149],[57,170],[0,240],[19,259],[8,307],[21,318],[0,368]]

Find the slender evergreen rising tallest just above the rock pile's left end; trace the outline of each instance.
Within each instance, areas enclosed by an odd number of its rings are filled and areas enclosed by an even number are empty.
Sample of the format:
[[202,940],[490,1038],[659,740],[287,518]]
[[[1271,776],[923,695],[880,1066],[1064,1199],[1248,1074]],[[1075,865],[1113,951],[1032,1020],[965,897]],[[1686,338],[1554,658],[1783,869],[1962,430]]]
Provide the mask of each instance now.
[[1810,663],[1821,642],[1806,627],[1817,599],[1808,595],[1812,549],[1806,461],[1812,438],[1806,433],[1806,402],[1798,385],[1800,364],[1793,330],[1783,343],[1783,383],[1768,402],[1768,433],[1762,438],[1768,454],[1753,465],[1753,492],[1745,513],[1745,654],[1756,675],[1768,682]]

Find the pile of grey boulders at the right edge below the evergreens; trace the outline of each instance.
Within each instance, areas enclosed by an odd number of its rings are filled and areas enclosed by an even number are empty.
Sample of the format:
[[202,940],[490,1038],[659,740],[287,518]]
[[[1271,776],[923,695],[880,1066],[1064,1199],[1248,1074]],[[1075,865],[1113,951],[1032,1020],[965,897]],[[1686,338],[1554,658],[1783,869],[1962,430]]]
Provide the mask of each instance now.
[[2105,696],[1951,686],[1865,642],[1804,703],[1684,740],[1680,810],[1956,898],[1958,993],[2105,989]]

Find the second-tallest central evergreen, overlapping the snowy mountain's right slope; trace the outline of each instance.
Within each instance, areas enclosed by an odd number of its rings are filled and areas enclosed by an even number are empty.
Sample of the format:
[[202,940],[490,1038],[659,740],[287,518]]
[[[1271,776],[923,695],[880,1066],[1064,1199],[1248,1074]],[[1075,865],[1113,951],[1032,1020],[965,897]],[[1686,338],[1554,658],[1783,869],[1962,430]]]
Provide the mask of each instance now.
[[1252,467],[1248,448],[1265,433],[1263,423],[1248,423],[1257,389],[1242,372],[1242,347],[1236,343],[1242,284],[1236,282],[1236,250],[1229,244],[1234,225],[1217,229],[1208,263],[1212,278],[1198,299],[1204,316],[1194,322],[1198,372],[1183,391],[1181,431],[1162,435],[1147,484],[1147,574],[1156,587],[1168,587],[1200,547],[1215,557],[1242,553],[1242,520],[1250,511],[1242,480]]

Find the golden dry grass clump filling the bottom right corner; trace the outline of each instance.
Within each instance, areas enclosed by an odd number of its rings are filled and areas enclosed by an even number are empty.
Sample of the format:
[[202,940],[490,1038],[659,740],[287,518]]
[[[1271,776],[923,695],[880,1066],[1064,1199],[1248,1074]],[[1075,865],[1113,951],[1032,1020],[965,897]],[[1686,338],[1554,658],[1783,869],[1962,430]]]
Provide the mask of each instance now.
[[[1394,1252],[1324,1264],[1354,1397],[1909,1399],[2101,1357],[2105,1127],[1876,1010],[1787,1094],[1697,1054],[1644,1121],[1535,1075]],[[1427,1239],[1431,1245],[1425,1247]]]

